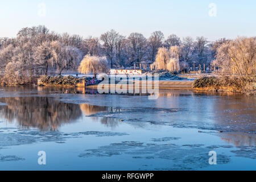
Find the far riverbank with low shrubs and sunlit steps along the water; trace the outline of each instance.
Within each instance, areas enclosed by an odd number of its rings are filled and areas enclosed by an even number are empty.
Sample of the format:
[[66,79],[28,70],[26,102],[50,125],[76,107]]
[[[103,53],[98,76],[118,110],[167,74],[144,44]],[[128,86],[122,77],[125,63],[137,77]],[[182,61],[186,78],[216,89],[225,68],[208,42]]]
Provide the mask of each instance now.
[[[167,73],[166,73],[167,75]],[[164,75],[164,77],[166,77]],[[168,75],[170,77],[170,74]],[[174,76],[172,76],[174,77]],[[177,77],[177,76],[176,76]],[[118,78],[119,80],[119,78]],[[112,81],[109,81],[109,84],[104,84],[108,88],[116,88],[119,86],[119,81],[115,80],[113,84]],[[131,83],[132,82],[132,83]],[[92,77],[75,77],[71,75],[67,76],[41,76],[38,78],[35,83],[29,84],[9,84],[9,86],[52,86],[52,87],[86,87],[97,89],[100,80],[94,79]],[[133,81],[127,81],[129,84],[133,84],[134,89],[143,89],[147,88],[148,82],[146,80],[139,80],[135,78]],[[122,83],[123,84],[123,83]],[[5,84],[6,85],[6,84]],[[152,81],[152,88],[156,83]],[[150,86],[151,87],[151,86]],[[213,92],[234,92],[234,93],[243,93],[243,94],[254,94],[256,95],[256,89],[243,92],[242,90],[237,89],[232,85],[221,85],[221,82],[216,77],[201,77],[196,80],[191,80],[191,78],[182,78],[182,80],[160,80],[157,85],[158,89],[173,89],[173,90],[199,90],[199,91],[213,91]]]

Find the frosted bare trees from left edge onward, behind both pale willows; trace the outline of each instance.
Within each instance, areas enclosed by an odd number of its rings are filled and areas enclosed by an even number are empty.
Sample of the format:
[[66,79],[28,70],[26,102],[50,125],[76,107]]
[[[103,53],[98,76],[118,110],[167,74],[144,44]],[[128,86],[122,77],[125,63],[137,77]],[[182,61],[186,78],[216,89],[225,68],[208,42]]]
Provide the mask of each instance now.
[[[85,55],[105,56],[110,68],[127,68],[134,63],[154,63],[159,48],[181,49],[179,61],[209,65],[216,57],[217,48],[225,39],[208,42],[204,37],[180,39],[170,35],[164,39],[160,31],[149,38],[133,32],[123,36],[114,30],[99,38],[82,38],[68,33],[57,34],[45,26],[22,28],[16,38],[0,38],[1,82],[32,82],[39,75],[48,75],[49,70],[61,74],[64,70],[77,69]],[[183,64],[184,65],[184,64]]]

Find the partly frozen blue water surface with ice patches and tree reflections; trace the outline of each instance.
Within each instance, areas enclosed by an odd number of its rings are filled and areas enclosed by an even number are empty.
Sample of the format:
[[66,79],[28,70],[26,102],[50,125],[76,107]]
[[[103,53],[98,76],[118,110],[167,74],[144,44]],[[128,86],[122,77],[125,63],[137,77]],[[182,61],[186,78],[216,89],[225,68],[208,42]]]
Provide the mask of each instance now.
[[255,97],[68,92],[1,87],[1,170],[256,170]]

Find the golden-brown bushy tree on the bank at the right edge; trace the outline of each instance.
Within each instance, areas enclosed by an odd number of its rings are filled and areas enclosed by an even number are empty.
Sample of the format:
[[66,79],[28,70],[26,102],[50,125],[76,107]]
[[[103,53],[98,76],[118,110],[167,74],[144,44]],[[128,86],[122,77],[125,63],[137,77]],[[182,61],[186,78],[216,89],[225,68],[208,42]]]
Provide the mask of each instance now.
[[243,91],[254,90],[256,82],[256,37],[239,37],[217,49],[214,63],[224,81],[229,80]]

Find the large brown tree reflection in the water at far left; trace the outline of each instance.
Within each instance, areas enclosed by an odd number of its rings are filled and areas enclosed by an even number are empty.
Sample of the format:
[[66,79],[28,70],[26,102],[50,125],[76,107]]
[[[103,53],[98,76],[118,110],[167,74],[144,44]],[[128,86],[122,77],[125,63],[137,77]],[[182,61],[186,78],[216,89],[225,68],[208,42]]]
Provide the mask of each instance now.
[[81,117],[79,105],[54,100],[51,97],[0,98],[7,106],[0,107],[2,118],[16,122],[22,128],[35,127],[43,131],[56,131],[64,123]]

